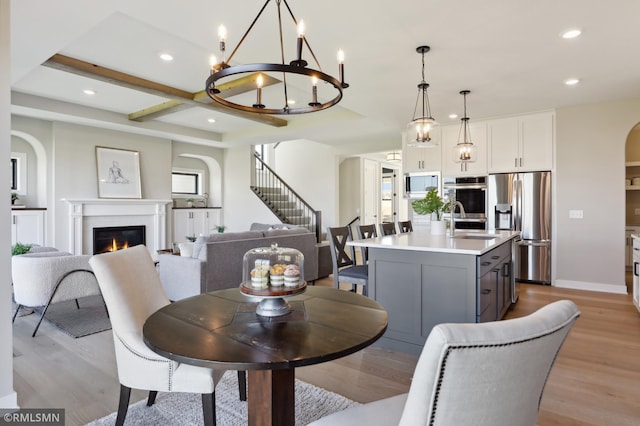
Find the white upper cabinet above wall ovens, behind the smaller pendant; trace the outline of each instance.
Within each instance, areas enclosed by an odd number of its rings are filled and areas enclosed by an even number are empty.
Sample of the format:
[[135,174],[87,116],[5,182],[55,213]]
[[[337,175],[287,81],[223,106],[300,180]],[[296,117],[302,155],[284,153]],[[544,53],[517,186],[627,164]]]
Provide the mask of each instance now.
[[442,127],[442,176],[485,176],[487,174],[487,124],[469,123],[470,140],[476,147],[476,161],[456,163],[453,149],[458,144],[460,125]]

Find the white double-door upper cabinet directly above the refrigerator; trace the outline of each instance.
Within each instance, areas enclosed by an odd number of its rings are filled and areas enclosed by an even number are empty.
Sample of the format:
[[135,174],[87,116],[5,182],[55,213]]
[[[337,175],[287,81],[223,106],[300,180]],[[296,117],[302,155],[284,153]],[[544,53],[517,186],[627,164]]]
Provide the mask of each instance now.
[[552,112],[488,122],[488,172],[551,170],[554,116]]

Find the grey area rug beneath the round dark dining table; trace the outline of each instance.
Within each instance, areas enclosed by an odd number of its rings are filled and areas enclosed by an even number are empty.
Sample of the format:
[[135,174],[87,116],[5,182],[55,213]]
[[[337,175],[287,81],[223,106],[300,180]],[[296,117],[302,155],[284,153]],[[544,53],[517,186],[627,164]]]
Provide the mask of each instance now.
[[[238,397],[238,378],[235,371],[227,371],[216,386],[216,425],[244,426],[247,424],[247,403]],[[296,425],[307,425],[331,413],[359,405],[342,395],[296,379]],[[113,396],[114,405],[117,395]],[[202,397],[200,394],[158,393],[156,403],[147,407],[147,400],[129,406],[124,424],[130,426],[201,426]],[[112,426],[116,413],[89,423],[87,426]]]

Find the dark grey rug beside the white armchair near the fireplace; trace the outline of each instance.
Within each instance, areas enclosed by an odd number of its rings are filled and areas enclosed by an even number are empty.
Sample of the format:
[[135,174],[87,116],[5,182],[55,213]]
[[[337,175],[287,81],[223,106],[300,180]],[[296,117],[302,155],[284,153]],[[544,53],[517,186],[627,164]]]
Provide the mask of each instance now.
[[[83,297],[78,299],[78,304],[80,309],[76,307],[74,300],[54,303],[47,309],[44,319],[62,332],[76,338],[111,330],[111,322],[102,296]],[[34,309],[38,317],[42,314],[42,309],[42,307]]]

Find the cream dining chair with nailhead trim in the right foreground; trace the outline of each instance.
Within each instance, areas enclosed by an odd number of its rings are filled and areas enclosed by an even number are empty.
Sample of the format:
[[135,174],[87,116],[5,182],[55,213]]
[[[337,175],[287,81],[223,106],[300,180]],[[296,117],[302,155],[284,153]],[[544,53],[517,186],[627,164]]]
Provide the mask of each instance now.
[[573,302],[561,300],[522,318],[436,325],[408,394],[311,425],[533,426],[551,367],[579,315]]

